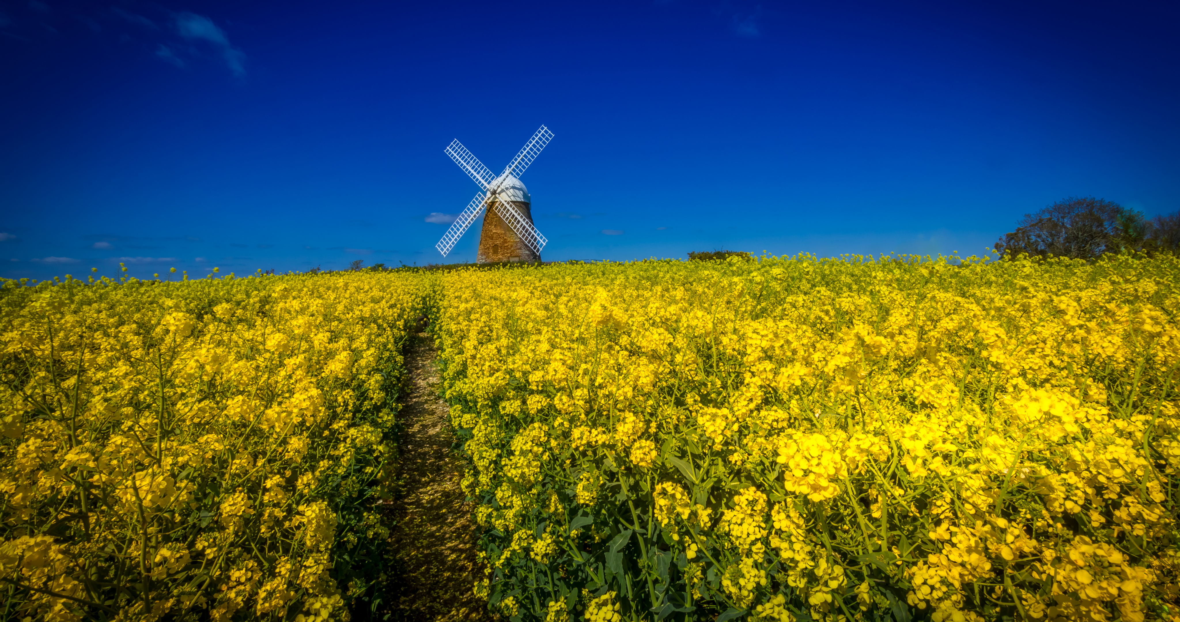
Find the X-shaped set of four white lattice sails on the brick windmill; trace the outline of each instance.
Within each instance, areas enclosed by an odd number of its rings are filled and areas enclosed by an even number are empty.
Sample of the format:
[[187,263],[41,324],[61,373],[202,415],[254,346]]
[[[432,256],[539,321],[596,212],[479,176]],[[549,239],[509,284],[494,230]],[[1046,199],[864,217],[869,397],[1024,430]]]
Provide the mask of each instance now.
[[533,159],[537,159],[537,156],[543,149],[545,149],[545,145],[548,145],[549,140],[552,138],[553,132],[550,132],[549,127],[542,125],[540,129],[532,135],[532,138],[524,144],[520,152],[517,153],[511,162],[509,162],[509,165],[504,168],[504,172],[502,172],[498,177],[493,175],[487,166],[484,166],[484,164],[479,162],[479,158],[472,155],[471,151],[467,151],[467,148],[463,146],[459,140],[452,140],[451,144],[447,145],[446,155],[451,156],[451,159],[453,159],[454,163],[472,178],[472,181],[479,184],[479,188],[484,191],[478,192],[476,198],[471,199],[471,203],[467,203],[467,208],[459,214],[459,217],[455,218],[453,223],[451,223],[451,228],[447,229],[446,234],[442,234],[442,238],[439,240],[439,243],[434,244],[434,248],[437,248],[444,257],[451,253],[451,249],[453,249],[459,242],[463,234],[467,231],[471,223],[476,222],[476,220],[479,218],[479,215],[489,205],[492,205],[496,209],[496,212],[504,218],[504,222],[512,228],[512,230],[520,237],[520,240],[524,241],[525,244],[529,244],[529,248],[533,249],[538,254],[543,248],[545,248],[549,240],[546,240],[545,236],[542,235],[540,231],[538,231],[523,214],[520,214],[520,210],[516,209],[516,207],[511,203],[511,199],[499,199],[499,194],[500,188],[510,178],[520,178],[520,175],[523,175],[525,169],[532,164]]

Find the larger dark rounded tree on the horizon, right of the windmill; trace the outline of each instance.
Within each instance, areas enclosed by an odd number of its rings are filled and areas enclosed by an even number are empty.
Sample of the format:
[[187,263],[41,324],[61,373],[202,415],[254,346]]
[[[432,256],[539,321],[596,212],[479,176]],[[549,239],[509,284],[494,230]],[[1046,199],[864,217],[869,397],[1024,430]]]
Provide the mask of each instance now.
[[1142,248],[1148,227],[1141,212],[1094,197],[1069,197],[1025,214],[1015,231],[996,242],[1010,256],[1092,260],[1103,253]]

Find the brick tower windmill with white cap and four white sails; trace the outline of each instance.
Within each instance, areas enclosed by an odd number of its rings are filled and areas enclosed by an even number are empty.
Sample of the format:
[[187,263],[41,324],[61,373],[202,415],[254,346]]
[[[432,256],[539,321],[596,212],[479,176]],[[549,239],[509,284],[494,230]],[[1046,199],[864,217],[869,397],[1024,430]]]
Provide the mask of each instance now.
[[467,203],[467,208],[451,224],[442,240],[434,244],[444,257],[486,209],[487,216],[479,233],[477,262],[540,261],[540,249],[545,248],[548,240],[532,225],[532,199],[520,183],[520,175],[551,138],[553,132],[542,125],[499,176],[484,166],[459,140],[451,142],[446,155],[479,184],[480,191],[476,192],[476,198]]

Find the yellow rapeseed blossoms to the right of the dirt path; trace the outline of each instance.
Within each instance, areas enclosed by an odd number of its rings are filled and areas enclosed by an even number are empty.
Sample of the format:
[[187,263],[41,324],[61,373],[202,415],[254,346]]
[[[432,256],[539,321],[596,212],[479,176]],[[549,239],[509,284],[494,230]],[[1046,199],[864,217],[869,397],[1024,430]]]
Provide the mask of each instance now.
[[434,279],[478,589],[522,620],[1180,613],[1175,257]]

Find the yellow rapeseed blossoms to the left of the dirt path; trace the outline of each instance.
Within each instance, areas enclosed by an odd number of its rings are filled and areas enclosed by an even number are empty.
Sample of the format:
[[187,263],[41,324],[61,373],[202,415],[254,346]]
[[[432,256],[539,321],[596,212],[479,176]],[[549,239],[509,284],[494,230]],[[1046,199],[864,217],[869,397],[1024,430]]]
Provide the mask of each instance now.
[[6,616],[347,615],[425,282],[0,284]]

